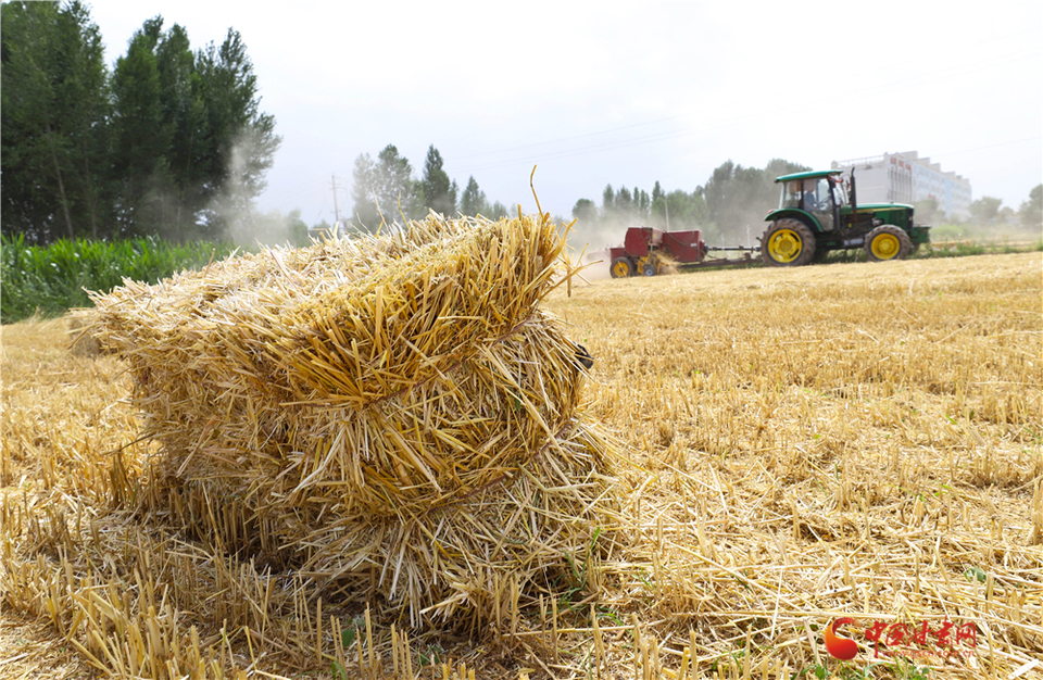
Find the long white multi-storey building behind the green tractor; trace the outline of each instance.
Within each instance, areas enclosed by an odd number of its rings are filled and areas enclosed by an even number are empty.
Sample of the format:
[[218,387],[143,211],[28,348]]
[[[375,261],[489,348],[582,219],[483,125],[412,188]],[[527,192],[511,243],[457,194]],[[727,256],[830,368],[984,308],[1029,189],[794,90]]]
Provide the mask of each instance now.
[[916,203],[934,199],[946,217],[966,218],[970,209],[970,180],[943,172],[916,151],[884,153],[868,159],[833,161],[834,169],[855,168],[859,203]]

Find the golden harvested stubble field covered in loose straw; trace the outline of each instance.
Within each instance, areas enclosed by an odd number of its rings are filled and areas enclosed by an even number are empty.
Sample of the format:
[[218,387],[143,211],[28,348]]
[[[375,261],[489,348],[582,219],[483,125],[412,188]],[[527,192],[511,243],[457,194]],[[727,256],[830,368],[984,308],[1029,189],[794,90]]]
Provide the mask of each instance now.
[[[507,597],[469,635],[284,601],[259,564],[141,529],[125,366],[67,353],[60,322],[4,327],[0,676],[1041,677],[1041,270],[1030,253],[555,293],[630,464],[628,524],[576,556],[570,596]],[[822,646],[839,616],[846,665]],[[862,632],[945,618],[976,644],[874,658]]]

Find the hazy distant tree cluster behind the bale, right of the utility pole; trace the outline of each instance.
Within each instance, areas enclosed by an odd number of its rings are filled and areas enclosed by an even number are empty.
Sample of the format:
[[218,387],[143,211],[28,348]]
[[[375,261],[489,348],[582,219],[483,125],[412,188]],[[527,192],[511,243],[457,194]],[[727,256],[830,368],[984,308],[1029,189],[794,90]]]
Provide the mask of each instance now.
[[500,201],[489,203],[474,176],[467,178],[461,192],[443,166],[442,154],[435,144],[427,150],[419,178],[394,144],[385,147],[376,160],[368,153],[360,154],[352,169],[352,227],[374,231],[382,221],[394,222],[400,214],[407,219],[420,219],[428,211],[445,216],[482,215],[490,219],[507,214],[507,206]]

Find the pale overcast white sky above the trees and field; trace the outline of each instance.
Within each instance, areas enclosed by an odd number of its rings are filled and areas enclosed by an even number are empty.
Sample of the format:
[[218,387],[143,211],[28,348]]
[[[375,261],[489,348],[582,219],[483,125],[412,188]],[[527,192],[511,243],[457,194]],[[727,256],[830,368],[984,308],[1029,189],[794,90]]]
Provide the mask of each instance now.
[[261,207],[350,213],[360,153],[429,144],[461,189],[568,216],[606,184],[692,191],[731,159],[916,150],[1017,209],[1043,181],[1043,2],[103,0],[114,64],[147,18],[247,45],[282,146]]

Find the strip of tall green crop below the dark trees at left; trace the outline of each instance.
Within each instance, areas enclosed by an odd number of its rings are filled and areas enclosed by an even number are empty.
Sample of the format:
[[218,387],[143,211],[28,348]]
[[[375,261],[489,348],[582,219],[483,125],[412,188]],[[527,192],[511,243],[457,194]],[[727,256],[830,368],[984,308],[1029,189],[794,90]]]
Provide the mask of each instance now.
[[233,251],[229,243],[173,244],[154,237],[113,242],[61,239],[40,247],[27,244],[22,235],[4,236],[0,322],[11,324],[34,314],[61,316],[71,307],[91,305],[84,289],[108,291],[124,278],[154,284]]

